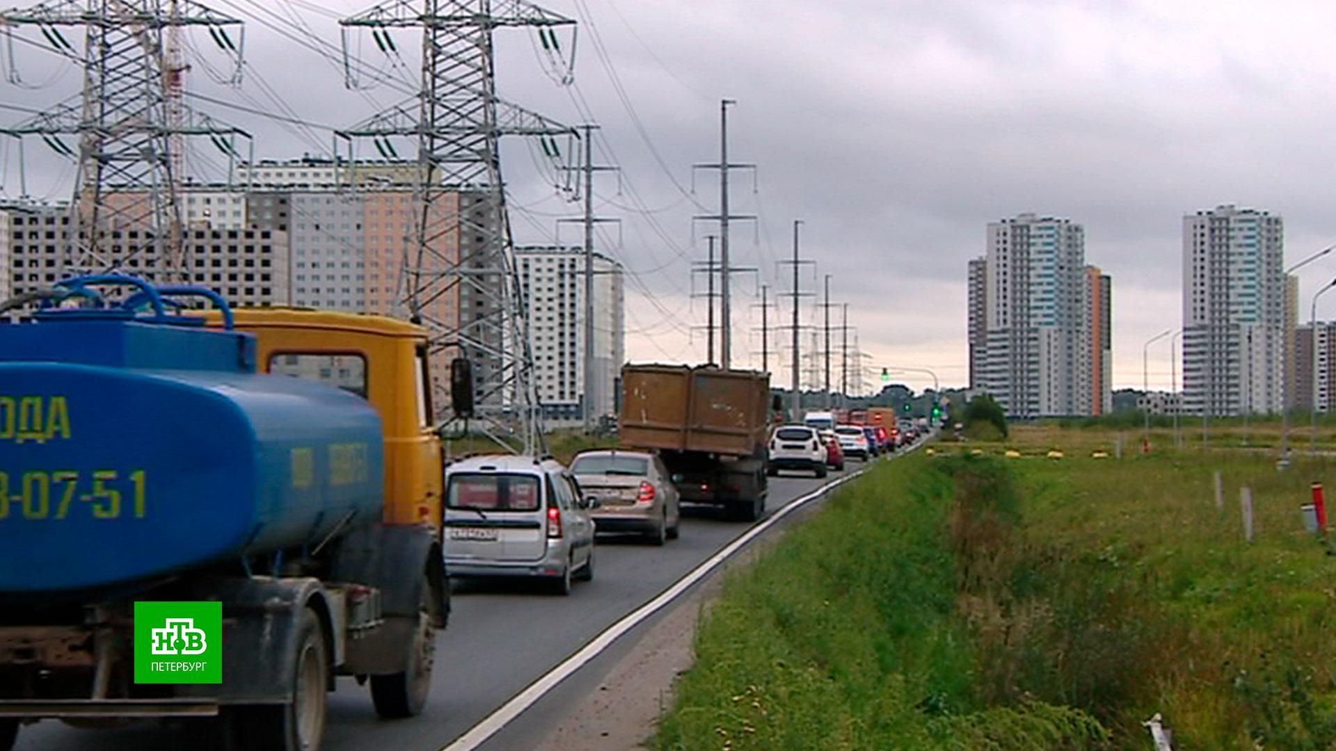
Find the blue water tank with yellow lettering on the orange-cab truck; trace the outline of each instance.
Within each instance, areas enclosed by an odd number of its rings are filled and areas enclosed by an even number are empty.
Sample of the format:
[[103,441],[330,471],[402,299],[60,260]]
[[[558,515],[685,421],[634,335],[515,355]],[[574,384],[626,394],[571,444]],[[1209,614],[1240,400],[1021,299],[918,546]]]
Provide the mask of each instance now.
[[96,313],[0,325],[0,597],[310,548],[381,518],[370,404],[257,374],[247,334]]

